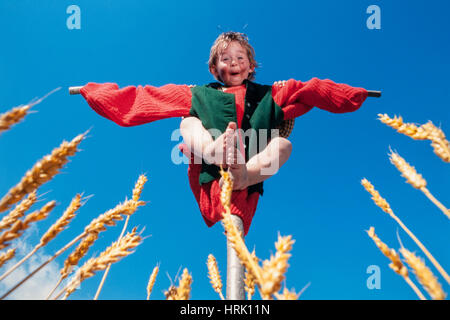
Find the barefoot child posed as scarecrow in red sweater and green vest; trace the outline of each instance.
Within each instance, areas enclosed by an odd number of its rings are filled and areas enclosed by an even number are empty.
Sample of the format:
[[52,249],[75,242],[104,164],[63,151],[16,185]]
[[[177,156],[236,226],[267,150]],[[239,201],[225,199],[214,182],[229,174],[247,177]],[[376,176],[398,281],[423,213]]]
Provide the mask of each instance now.
[[80,90],[97,113],[121,126],[183,117],[181,149],[191,159],[189,183],[206,224],[222,218],[222,165],[233,176],[231,213],[242,219],[244,234],[263,194],[263,181],[292,150],[274,129],[292,124],[314,106],[334,113],[355,111],[368,94],[363,88],[317,78],[259,85],[251,81],[257,68],[254,56],[244,34],[226,32],[214,42],[209,58],[209,70],[220,83],[123,89],[114,83],[88,83]]

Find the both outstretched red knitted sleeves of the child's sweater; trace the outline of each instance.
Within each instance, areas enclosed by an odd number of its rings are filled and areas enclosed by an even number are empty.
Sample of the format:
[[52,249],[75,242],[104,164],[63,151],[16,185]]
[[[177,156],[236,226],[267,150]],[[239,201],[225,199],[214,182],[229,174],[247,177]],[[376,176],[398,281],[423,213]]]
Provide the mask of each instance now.
[[[171,117],[189,115],[191,90],[187,85],[162,87],[88,83],[81,94],[97,113],[120,126],[136,126]],[[272,86],[272,96],[285,119],[303,115],[314,106],[335,113],[357,110],[367,98],[364,88],[313,78],[307,82],[288,80]]]

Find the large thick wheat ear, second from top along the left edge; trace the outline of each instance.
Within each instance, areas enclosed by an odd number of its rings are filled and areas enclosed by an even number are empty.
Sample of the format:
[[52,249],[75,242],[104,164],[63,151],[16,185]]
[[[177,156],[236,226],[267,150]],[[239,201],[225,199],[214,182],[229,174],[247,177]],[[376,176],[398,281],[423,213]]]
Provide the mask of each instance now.
[[87,132],[76,136],[71,142],[63,141],[51,154],[38,161],[22,177],[21,181],[11,188],[0,200],[0,212],[7,210],[11,205],[19,202],[25,195],[50,181],[68,162],[68,157],[73,156],[78,151],[77,147],[86,134]]

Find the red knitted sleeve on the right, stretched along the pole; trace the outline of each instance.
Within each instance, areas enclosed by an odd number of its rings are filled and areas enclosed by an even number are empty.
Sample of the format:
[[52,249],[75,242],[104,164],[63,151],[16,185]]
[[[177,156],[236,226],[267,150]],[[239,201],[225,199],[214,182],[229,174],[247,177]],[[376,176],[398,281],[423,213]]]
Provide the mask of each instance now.
[[333,113],[358,110],[367,98],[367,90],[331,80],[312,78],[307,82],[290,79],[284,86],[273,85],[272,96],[284,111],[285,119],[292,119],[318,107]]

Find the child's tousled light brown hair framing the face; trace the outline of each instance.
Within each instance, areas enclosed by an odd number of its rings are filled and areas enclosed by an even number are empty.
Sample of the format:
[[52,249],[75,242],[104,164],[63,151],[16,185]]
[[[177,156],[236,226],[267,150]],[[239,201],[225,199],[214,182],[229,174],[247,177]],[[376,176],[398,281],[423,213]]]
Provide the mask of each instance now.
[[[228,31],[220,34],[211,47],[208,60],[209,71],[211,73],[211,70],[216,66],[217,58],[232,41],[237,41],[243,48],[245,48],[245,50],[247,51],[247,57],[250,62],[250,66],[254,69],[258,67],[258,63],[255,60],[255,49],[253,49],[253,47],[248,42],[247,35],[240,32]],[[249,73],[248,80],[255,79],[256,72],[254,69],[253,72]],[[216,79],[222,81],[220,78],[216,77]]]

